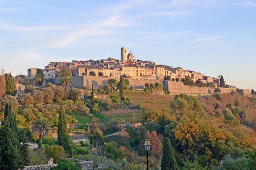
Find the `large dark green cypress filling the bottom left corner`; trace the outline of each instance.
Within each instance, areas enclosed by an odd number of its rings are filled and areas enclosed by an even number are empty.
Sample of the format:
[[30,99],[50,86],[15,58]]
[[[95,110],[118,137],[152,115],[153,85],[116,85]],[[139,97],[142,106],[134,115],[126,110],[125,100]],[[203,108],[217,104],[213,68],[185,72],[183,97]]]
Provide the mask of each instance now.
[[16,114],[13,116],[11,110],[6,103],[0,128],[0,169],[20,169],[28,164],[27,138],[24,131],[18,130]]

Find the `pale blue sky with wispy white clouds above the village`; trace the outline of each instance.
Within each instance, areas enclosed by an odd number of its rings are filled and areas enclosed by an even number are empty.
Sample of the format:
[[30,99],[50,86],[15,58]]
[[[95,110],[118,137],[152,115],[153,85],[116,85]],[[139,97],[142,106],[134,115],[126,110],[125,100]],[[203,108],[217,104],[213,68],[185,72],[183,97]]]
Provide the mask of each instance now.
[[256,90],[256,1],[1,1],[0,69],[120,58],[181,66]]

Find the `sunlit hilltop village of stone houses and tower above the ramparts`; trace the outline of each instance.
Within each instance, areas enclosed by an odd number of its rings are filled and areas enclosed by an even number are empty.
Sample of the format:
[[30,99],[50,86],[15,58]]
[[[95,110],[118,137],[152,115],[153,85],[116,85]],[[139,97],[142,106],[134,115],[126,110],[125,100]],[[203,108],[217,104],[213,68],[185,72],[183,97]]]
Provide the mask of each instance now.
[[[180,81],[189,78],[193,82],[200,80],[202,83],[214,83],[215,87],[220,86],[220,79],[206,76],[190,70],[183,70],[181,67],[159,65],[152,61],[135,60],[133,53],[127,52],[126,47],[121,48],[121,60],[108,57],[107,60],[87,60],[70,62],[50,62],[43,69],[44,80],[55,79],[62,67],[67,67],[74,77],[95,76],[120,78],[125,75],[127,79],[143,80],[171,80]],[[28,77],[34,78],[37,69],[28,69]],[[226,82],[225,82],[226,84]],[[227,88],[235,88],[225,85]]]

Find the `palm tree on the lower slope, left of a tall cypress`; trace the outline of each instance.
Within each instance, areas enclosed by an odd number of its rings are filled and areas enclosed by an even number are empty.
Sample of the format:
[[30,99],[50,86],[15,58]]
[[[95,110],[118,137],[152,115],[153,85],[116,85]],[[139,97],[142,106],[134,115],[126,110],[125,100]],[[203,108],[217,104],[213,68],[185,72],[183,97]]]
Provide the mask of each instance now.
[[42,136],[48,137],[50,130],[51,126],[46,118],[37,118],[33,122],[32,134],[39,133],[39,140],[42,140]]

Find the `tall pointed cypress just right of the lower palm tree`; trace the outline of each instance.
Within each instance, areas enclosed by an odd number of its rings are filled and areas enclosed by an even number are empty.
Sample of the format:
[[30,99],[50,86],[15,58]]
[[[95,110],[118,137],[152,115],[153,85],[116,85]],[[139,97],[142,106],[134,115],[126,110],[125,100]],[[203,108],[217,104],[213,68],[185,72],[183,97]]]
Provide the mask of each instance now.
[[65,109],[63,105],[60,107],[60,115],[59,115],[59,124],[58,124],[58,139],[57,145],[63,146],[65,151],[70,154],[70,156],[74,155],[74,151],[71,148],[71,143],[69,143],[69,135],[68,135],[68,125],[66,120]]

